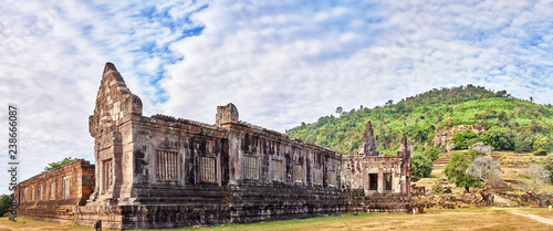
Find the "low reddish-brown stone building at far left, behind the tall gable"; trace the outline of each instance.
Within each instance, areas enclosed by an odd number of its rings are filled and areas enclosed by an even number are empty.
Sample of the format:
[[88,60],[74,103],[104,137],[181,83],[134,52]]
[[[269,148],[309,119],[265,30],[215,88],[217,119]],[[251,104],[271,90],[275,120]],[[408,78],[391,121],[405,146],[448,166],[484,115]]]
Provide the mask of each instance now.
[[74,221],[73,208],[84,206],[94,190],[94,165],[74,160],[18,185],[18,216],[53,222]]

